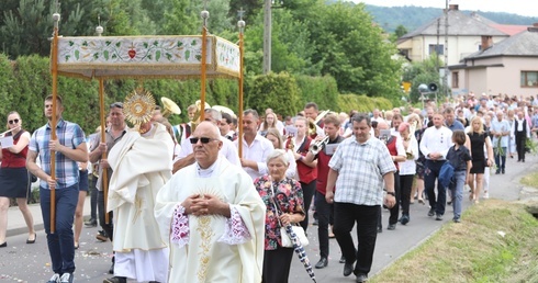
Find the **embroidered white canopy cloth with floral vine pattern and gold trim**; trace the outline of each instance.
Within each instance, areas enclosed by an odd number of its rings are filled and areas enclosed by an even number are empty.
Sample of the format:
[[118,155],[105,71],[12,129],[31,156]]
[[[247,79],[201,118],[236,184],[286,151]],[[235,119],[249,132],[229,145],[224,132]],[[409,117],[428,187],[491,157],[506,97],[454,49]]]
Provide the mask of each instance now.
[[[208,78],[239,78],[239,47],[209,35]],[[58,37],[58,73],[93,78],[200,78],[202,36]]]

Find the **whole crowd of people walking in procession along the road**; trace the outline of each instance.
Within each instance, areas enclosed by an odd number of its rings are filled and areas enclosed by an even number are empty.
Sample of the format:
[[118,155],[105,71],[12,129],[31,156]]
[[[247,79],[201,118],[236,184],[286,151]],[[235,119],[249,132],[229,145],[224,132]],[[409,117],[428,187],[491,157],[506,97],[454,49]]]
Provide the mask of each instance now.
[[[487,199],[490,174],[509,170],[507,157],[525,162],[527,140],[538,131],[538,100],[473,93],[405,114],[400,107],[321,113],[314,102],[285,117],[249,109],[240,113],[242,125],[233,113],[205,109],[201,115],[191,105],[190,122],[172,126],[156,106],[133,128],[128,110],[115,102],[104,140],[100,128],[87,138],[80,126],[65,121],[59,97],[53,137],[52,97],[44,106],[48,123],[32,135],[16,112],[7,117],[0,248],[8,245],[10,197],[26,222],[26,242],[36,241],[26,205],[35,177],[51,283],[74,281],[88,193],[86,225],[99,225],[96,237],[110,240],[114,253],[113,276],[104,283],[288,282],[295,247],[283,246],[289,235],[281,228],[300,226],[307,234],[311,224],[317,226],[315,269],[329,264],[329,239],[336,238],[343,275],[365,282],[383,231],[383,207],[390,212],[388,230],[412,220],[414,203],[427,203],[427,215],[436,220],[452,205],[452,220],[460,223],[466,190],[472,203]],[[203,121],[197,121],[200,116]]]

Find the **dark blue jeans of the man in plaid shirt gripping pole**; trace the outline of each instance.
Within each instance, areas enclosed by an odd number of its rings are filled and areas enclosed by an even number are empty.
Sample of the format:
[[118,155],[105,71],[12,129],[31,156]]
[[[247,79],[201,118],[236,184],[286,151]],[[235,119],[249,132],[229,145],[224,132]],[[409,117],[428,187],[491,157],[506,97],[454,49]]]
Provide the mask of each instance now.
[[56,190],[56,229],[54,234],[51,234],[51,190],[40,188],[40,197],[53,271],[58,274],[72,273],[75,271],[72,220],[78,202],[78,183]]

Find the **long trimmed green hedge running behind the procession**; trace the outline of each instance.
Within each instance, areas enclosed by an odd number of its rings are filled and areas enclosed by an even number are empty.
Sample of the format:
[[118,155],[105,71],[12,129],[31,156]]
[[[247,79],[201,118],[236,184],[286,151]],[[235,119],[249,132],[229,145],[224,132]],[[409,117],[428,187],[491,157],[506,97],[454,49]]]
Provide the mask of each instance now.
[[[10,61],[0,55],[0,120],[10,111],[18,111],[30,132],[43,126],[43,100],[52,93],[52,76],[47,57],[20,56]],[[99,82],[58,76],[58,94],[64,99],[64,118],[79,124],[87,134],[100,125]],[[200,80],[126,79],[105,80],[105,111],[114,101],[123,101],[137,87],[150,91],[157,104],[167,97],[182,110],[181,115],[171,115],[171,124],[187,122],[187,107],[200,99]],[[238,112],[238,82],[229,79],[213,79],[206,82],[206,99],[210,105],[225,105]],[[338,94],[337,83],[330,76],[291,76],[287,72],[267,76],[250,76],[244,82],[244,104],[264,113],[271,107],[283,116],[295,115],[304,104],[314,101],[321,110],[349,112],[351,109],[371,111],[374,107],[391,109],[384,98]]]

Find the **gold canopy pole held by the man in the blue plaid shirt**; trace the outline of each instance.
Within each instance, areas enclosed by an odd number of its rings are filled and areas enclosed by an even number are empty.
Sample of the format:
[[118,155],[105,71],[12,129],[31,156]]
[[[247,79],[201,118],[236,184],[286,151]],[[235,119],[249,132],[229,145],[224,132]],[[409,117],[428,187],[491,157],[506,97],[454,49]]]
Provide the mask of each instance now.
[[[58,95],[58,23],[59,13],[53,14],[54,34],[51,53],[51,71],[53,75],[53,117],[51,120],[51,140],[56,140],[56,99]],[[56,180],[56,151],[51,150],[51,178]],[[56,231],[56,188],[51,188],[51,234]]]

